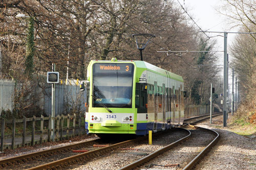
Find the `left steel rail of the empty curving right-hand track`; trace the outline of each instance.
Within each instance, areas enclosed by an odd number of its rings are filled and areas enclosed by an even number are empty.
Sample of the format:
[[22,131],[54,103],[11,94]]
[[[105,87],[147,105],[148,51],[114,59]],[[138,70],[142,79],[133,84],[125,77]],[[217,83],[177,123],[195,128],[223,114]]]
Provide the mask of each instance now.
[[142,163],[144,163],[144,162],[146,162],[146,161],[148,161],[150,159],[155,158],[156,156],[160,155],[161,153],[163,153],[165,151],[168,151],[169,149],[175,147],[177,144],[181,143],[182,141],[186,140],[188,137],[191,136],[191,132],[189,130],[183,129],[183,128],[179,128],[179,129],[182,129],[182,130],[188,132],[189,134],[187,136],[185,136],[185,137],[183,137],[183,138],[173,142],[173,143],[168,144],[166,147],[164,147],[162,149],[159,149],[159,150],[157,150],[156,152],[154,152],[154,153],[152,153],[150,155],[147,155],[147,156],[145,156],[145,157],[143,157],[143,158],[141,158],[141,159],[139,159],[139,160],[137,160],[137,161],[135,161],[133,163],[130,163],[130,164],[120,168],[119,170],[135,168],[135,167],[139,166],[140,164],[142,164]]

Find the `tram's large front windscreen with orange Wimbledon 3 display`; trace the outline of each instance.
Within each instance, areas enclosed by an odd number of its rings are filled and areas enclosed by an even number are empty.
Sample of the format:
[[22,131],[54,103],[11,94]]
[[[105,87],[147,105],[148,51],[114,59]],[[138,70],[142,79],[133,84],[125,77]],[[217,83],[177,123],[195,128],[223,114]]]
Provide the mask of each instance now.
[[132,63],[95,63],[93,107],[132,108],[133,73]]

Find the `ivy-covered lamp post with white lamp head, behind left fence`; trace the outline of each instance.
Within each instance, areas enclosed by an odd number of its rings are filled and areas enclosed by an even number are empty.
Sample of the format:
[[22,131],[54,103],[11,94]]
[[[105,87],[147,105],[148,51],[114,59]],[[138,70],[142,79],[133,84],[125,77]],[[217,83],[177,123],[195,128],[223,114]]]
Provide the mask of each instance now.
[[25,14],[17,14],[15,18],[29,19],[28,35],[27,35],[27,42],[26,42],[25,74],[28,74],[29,77],[32,78],[33,59],[34,59],[34,19],[33,17],[26,16]]

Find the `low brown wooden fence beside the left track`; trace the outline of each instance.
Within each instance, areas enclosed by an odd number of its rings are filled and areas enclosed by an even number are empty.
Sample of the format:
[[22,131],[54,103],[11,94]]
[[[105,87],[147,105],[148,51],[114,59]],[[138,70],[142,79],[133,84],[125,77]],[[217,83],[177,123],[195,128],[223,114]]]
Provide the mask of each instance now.
[[[11,149],[24,147],[25,145],[34,145],[37,143],[42,143],[52,140],[52,127],[51,127],[52,117],[31,117],[23,119],[5,120],[1,119],[1,146],[0,151],[3,152],[4,149]],[[54,140],[63,140],[74,137],[75,135],[86,134],[84,128],[84,118],[83,115],[61,115],[54,117]],[[11,134],[5,134],[7,129]],[[22,129],[22,133],[16,133],[17,129]],[[8,142],[9,141],[9,142]]]

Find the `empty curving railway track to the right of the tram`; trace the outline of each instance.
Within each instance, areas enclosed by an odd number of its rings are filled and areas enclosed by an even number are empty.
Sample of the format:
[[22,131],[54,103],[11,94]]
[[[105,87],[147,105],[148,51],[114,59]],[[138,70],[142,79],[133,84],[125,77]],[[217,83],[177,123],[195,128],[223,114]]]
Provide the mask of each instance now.
[[[151,168],[151,167],[172,167],[172,166],[177,166],[177,167],[181,167],[182,169],[191,169],[194,167],[194,165],[196,163],[198,163],[199,159],[203,158],[204,154],[207,153],[213,146],[214,144],[218,141],[219,139],[219,134],[214,131],[214,130],[210,130],[210,129],[205,129],[205,128],[201,128],[201,127],[197,127],[193,124],[189,124],[190,127],[192,127],[193,129],[190,130],[191,131],[191,137],[189,139],[187,139],[186,141],[182,140],[183,142],[178,146],[175,147],[177,144],[176,142],[173,142],[169,145],[167,145],[166,147],[138,160],[135,161],[129,165],[126,165],[122,168],[120,168],[119,170],[124,170],[124,169],[141,169],[141,168]],[[191,128],[189,128],[191,129]],[[206,132],[206,133],[205,133]],[[211,135],[209,135],[211,134]],[[198,141],[199,135],[203,135],[204,139],[203,141]],[[185,154],[185,152],[180,152],[180,155],[178,156],[179,160],[172,160],[170,159],[170,155],[172,154],[177,154],[179,151],[182,150],[182,148],[185,147],[191,147],[193,146],[194,148],[198,148],[198,151],[189,153],[189,154]],[[175,147],[175,148],[174,148]],[[172,149],[172,150],[171,150]],[[170,153],[166,153],[166,152],[170,152]],[[168,161],[168,164],[163,164],[161,163],[162,160],[165,160],[163,153],[165,153],[165,155],[167,155],[166,160]],[[185,157],[184,159],[182,159],[182,157]],[[161,161],[159,161],[161,160]],[[166,162],[166,161],[163,161]],[[181,162],[181,163],[177,163],[177,162]],[[189,163],[185,163],[185,162],[189,162]]]

